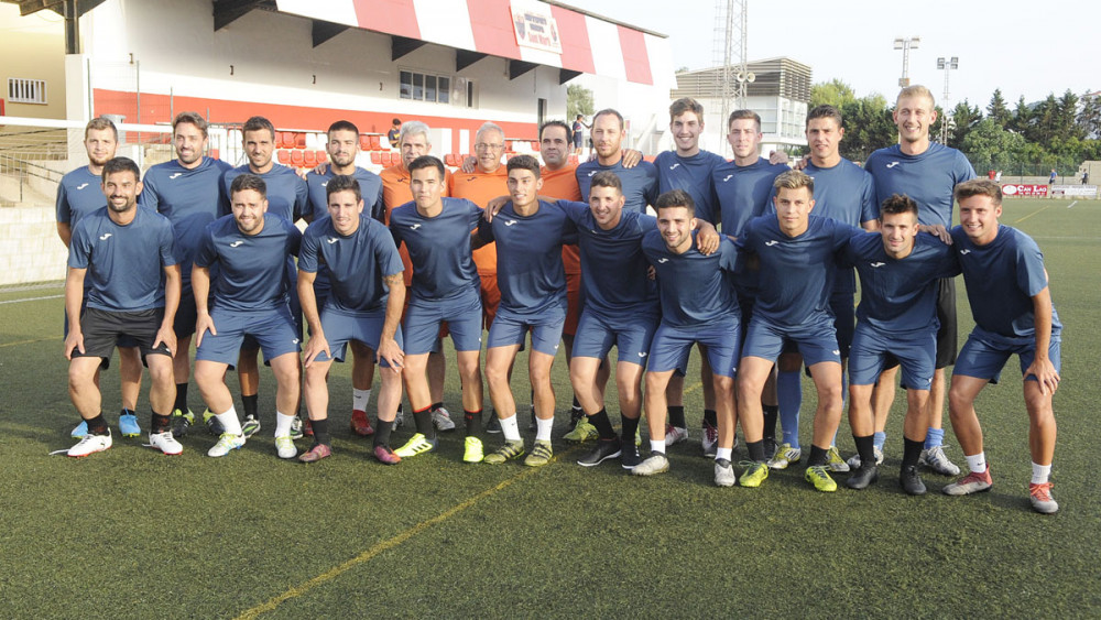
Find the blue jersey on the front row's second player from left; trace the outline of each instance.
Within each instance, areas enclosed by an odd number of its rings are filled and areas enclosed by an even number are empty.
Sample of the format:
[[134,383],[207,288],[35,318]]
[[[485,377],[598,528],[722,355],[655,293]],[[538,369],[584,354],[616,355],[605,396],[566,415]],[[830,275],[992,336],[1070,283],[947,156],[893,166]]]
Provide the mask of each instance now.
[[298,229],[271,211],[264,214],[264,227],[255,235],[241,232],[231,215],[210,222],[195,253],[195,265],[218,265],[210,285],[214,307],[262,311],[285,306],[291,286],[286,261],[298,253],[301,241]]

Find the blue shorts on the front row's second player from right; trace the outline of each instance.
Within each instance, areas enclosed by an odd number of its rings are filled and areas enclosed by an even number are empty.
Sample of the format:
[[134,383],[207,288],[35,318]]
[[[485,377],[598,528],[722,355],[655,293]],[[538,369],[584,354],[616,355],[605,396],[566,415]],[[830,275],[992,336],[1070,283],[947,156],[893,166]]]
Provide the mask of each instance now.
[[933,387],[936,359],[936,329],[898,337],[861,323],[852,338],[849,383],[872,385],[884,369],[897,362],[902,365],[903,385],[911,390],[928,390]]

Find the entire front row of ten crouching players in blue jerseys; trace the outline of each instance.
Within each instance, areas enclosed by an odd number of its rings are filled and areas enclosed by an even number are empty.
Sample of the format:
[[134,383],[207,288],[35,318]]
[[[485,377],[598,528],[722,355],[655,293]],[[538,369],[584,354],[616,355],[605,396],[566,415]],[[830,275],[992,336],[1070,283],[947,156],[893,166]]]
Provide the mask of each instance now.
[[[775,215],[751,220],[735,239],[720,238],[711,225],[696,219],[693,198],[683,191],[657,198],[656,218],[624,211],[622,185],[609,172],[593,175],[588,205],[548,203],[538,198],[538,162],[516,156],[508,164],[511,200],[483,211],[469,200],[443,197],[445,168],[439,160],[422,156],[408,170],[414,200],[394,209],[389,230],[363,214],[359,184],[350,176],[328,183],[329,217],[314,221],[302,235],[284,218],[266,213],[262,178],[244,174],[233,180],[232,214],[207,227],[192,273],[198,315],[196,382],[225,428],[210,456],[224,456],[246,440],[225,384],[246,336],[260,344],[279,383],[277,454],[297,456],[291,412],[299,398],[301,329],[288,308],[284,267],[287,255],[297,255],[297,290],[309,327],[304,400],[315,437],[301,460],[316,461],[331,454],[326,378],[333,360],[342,361],[352,341],[377,351],[383,369],[375,457],[395,464],[434,450],[437,439],[425,369],[440,326],[447,324],[462,383],[464,460],[500,464],[525,454],[509,377],[531,333],[528,366],[537,431],[524,463],[547,464],[553,456],[555,411],[550,369],[566,306],[562,246],[576,243],[586,305],[574,338],[570,382],[600,435],[580,465],[618,457],[640,476],[668,469],[665,389],[674,373],[685,372],[689,350],[698,344],[710,362],[719,396],[715,481],[760,486],[768,477],[771,456],[764,448],[761,395],[787,344],[798,348],[818,392],[805,478],[820,491],[836,490],[826,464],[842,415],[843,388],[829,297],[837,267],[848,265],[855,268],[862,291],[849,358],[849,418],[861,465],[846,486],[863,489],[879,478],[872,391],[882,371],[901,366],[907,413],[900,485],[909,494],[925,493],[917,464],[935,369],[937,282],[962,273],[977,325],[960,351],[949,403],[970,472],[944,490],[959,496],[991,488],[973,402],[988,382],[996,382],[1015,352],[1031,418],[1033,507],[1047,513],[1058,510],[1048,477],[1061,326],[1039,249],[1026,235],[998,221],[1002,194],[996,184],[973,180],[956,187],[961,225],[950,232],[919,226],[916,203],[900,195],[881,206],[881,230],[864,232],[810,215],[814,180],[791,171],[774,182]],[[70,395],[89,432],[68,454],[85,456],[111,445],[95,374],[123,335],[138,342],[152,378],[150,445],[179,454],[167,415],[174,399],[172,322],[179,302],[171,227],[163,217],[137,208],[141,183],[130,160],[108,162],[102,186],[108,207],[75,228],[69,255],[65,352],[72,360]],[[939,239],[922,233],[923,229]],[[501,307],[489,331],[486,374],[504,442],[486,454],[480,438],[481,302],[471,252],[489,242],[497,243],[501,257]],[[414,272],[402,326],[406,291],[397,253],[401,243],[410,252]],[[159,260],[150,260],[153,255]],[[324,301],[316,298],[313,287],[323,267],[330,280]],[[648,267],[653,279],[647,276]],[[128,270],[128,278],[112,276],[120,269]],[[733,274],[746,270],[757,272],[760,283],[751,311],[739,308],[733,287]],[[86,279],[90,292],[81,314]],[[612,346],[618,348],[619,436],[596,379]],[[417,432],[404,446],[391,449],[403,378]],[[651,438],[644,460],[635,444],[641,409],[647,414]],[[739,423],[749,457],[735,477],[731,460]]]

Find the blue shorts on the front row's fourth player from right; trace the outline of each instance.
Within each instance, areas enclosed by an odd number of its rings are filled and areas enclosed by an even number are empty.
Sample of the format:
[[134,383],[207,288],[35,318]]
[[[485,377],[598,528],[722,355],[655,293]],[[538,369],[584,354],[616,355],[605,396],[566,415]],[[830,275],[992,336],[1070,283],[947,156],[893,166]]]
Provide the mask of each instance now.
[[739,323],[738,315],[696,327],[673,327],[662,322],[650,347],[650,371],[676,370],[684,374],[688,369],[688,353],[691,352],[693,345],[699,342],[707,350],[707,361],[711,363],[711,372],[733,378],[740,359]]

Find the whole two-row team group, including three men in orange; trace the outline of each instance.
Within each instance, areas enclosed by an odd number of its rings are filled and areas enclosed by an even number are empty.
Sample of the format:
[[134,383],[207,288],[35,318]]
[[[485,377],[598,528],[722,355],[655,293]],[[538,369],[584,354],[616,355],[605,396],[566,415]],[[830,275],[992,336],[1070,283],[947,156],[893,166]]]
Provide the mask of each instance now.
[[[544,166],[530,156],[502,165],[504,132],[486,123],[471,172],[455,174],[428,155],[428,128],[416,121],[403,127],[400,164],[381,176],[359,168],[359,131],[340,121],[328,132],[331,165],[305,181],[272,161],[274,128],[259,117],[242,130],[249,163],[230,168],[204,156],[204,119],[179,115],[173,124],[177,159],[151,167],[143,183],[133,162],[112,159],[113,126],[94,120],[86,130],[91,164],[66,175],[57,202],[58,231],[70,247],[65,351],[70,393],[84,418],[74,431],[83,438],[68,454],[111,445],[97,380],[116,346],[122,434],[140,434],[133,413],[140,352],[152,378],[150,444],[165,454],[182,452],[174,434],[195,422],[186,401],[194,336],[204,420],[220,435],[210,456],[239,448],[260,428],[260,349],[277,383],[279,456],[307,463],[329,456],[326,378],[350,346],[357,360],[351,427],[373,434],[375,457],[395,464],[434,450],[436,431],[455,427],[442,403],[438,355],[439,338],[449,331],[462,385],[464,460],[504,463],[525,454],[509,381],[530,333],[535,442],[526,465],[545,465],[553,456],[550,368],[565,339],[575,393],[566,437],[597,439],[578,463],[619,458],[635,475],[667,470],[667,447],[688,437],[677,378],[698,345],[701,443],[715,457],[717,485],[756,487],[770,469],[802,459],[804,363],[818,391],[806,480],[832,491],[829,471],[853,467],[847,486],[873,483],[901,366],[908,406],[900,483],[922,494],[919,464],[959,472],[944,453],[940,417],[944,368],[957,350],[952,276],[962,271],[978,327],[956,366],[950,412],[970,472],[945,491],[991,487],[972,403],[1017,352],[1032,420],[1032,503],[1056,511],[1048,477],[1060,325],[1043,258],[1029,238],[998,225],[998,186],[973,180],[961,153],[929,141],[936,119],[929,91],[900,94],[900,143],[873,153],[864,168],[838,154],[843,130],[830,106],[808,113],[811,154],[803,172],[760,157],[760,118],[752,111],[729,118],[731,162],[699,149],[698,102],[680,99],[669,111],[676,150],[653,164],[621,151],[623,119],[603,110],[593,118],[595,161],[568,164],[569,128],[552,121],[541,128]],[[87,191],[96,184],[102,187],[98,198]],[[955,200],[962,226],[949,233]],[[647,205],[656,218],[645,215]],[[299,218],[310,222],[305,233],[292,224]],[[150,260],[154,253],[160,261]],[[855,331],[853,268],[862,283]],[[303,315],[309,327],[304,372]],[[504,434],[489,454],[481,440],[483,327],[486,378]],[[610,370],[603,361],[612,346],[620,435],[603,407]],[[372,356],[382,376],[377,428],[367,415]],[[833,440],[850,357],[858,455],[847,464]],[[225,383],[235,363],[243,424]],[[298,455],[293,437],[302,374],[314,445]],[[416,433],[391,449],[402,378]],[[651,444],[645,460],[636,443],[642,409]],[[739,422],[749,460],[735,477]]]

